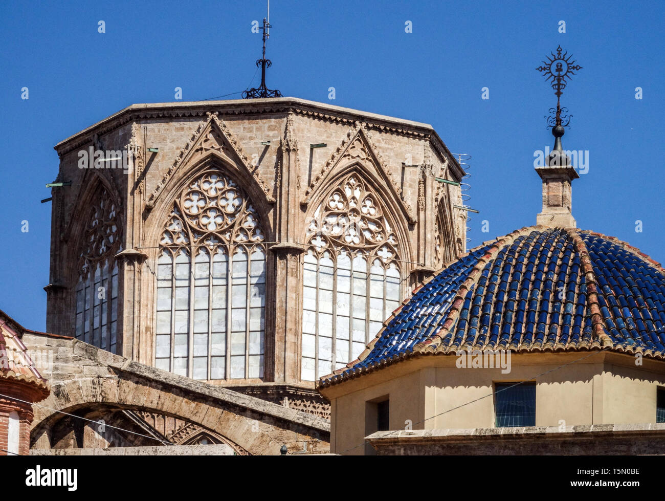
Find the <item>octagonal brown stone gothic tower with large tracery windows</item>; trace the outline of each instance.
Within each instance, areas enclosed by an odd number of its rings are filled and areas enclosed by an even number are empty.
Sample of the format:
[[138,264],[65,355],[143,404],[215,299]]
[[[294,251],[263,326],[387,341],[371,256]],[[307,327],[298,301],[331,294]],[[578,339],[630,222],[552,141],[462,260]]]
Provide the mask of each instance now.
[[317,399],[465,251],[432,126],[297,98],[134,104],[55,146],[47,329]]

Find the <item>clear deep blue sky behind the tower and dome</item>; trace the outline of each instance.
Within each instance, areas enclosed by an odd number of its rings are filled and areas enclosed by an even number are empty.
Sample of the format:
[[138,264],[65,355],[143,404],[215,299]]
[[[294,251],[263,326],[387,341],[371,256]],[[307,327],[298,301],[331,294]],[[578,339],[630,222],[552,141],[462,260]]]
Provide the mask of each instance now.
[[[260,78],[251,23],[264,15],[265,1],[3,3],[0,309],[45,328],[51,204],[40,200],[58,172],[53,146],[129,104],[172,101],[176,86],[183,100],[238,98]],[[573,184],[578,227],[663,262],[663,19],[662,1],[273,0],[267,82],[430,123],[450,150],[470,153],[475,246],[535,224],[533,152],[553,144],[544,116],[556,104],[535,67],[561,44],[583,66],[562,98],[573,114],[563,146],[589,152]]]

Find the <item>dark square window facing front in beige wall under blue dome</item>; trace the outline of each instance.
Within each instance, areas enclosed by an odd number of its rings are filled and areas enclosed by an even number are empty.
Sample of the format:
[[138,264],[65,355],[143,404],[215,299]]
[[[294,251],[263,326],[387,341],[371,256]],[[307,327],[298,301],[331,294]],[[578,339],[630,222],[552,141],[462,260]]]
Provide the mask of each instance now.
[[535,426],[535,383],[496,383],[494,405],[497,427]]

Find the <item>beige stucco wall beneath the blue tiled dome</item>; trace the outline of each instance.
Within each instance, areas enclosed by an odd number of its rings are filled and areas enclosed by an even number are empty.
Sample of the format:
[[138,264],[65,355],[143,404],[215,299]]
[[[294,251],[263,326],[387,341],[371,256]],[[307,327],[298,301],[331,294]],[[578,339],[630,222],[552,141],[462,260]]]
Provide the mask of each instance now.
[[[506,374],[501,369],[459,369],[454,356],[426,357],[321,389],[333,409],[331,452],[363,453],[358,445],[364,438],[365,405],[382,395],[390,398],[390,430],[404,430],[407,419],[414,430],[493,428],[494,383],[533,377],[536,426],[656,421],[656,388],[665,385],[665,363],[644,360],[636,366],[634,357],[608,353],[577,361],[583,356],[513,355]],[[450,409],[455,410],[446,412]]]

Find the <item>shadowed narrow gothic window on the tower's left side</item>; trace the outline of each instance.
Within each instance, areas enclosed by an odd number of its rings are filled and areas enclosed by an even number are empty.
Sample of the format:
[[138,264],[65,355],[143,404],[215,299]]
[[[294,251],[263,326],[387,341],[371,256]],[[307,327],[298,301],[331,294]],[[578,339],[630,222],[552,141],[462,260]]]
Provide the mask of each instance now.
[[111,353],[118,348],[118,265],[116,205],[101,188],[84,230],[76,284],[76,339]]

